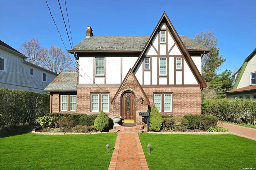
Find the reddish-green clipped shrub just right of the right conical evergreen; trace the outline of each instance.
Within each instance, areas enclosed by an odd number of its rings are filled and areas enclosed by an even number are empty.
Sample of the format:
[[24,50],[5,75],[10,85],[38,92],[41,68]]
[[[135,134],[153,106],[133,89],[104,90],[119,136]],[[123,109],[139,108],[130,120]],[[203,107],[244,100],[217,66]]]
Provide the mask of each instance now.
[[164,117],[163,130],[185,131],[188,129],[189,121],[181,117]]

